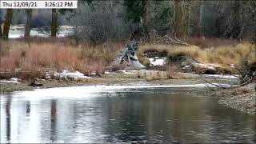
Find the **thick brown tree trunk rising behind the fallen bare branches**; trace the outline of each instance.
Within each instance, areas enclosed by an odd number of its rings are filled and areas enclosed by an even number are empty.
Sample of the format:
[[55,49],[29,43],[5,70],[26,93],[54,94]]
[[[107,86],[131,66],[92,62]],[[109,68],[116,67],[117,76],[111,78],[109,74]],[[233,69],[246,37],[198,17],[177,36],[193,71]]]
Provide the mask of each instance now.
[[186,19],[186,6],[184,1],[175,0],[175,22],[174,33],[177,38],[187,38],[188,26]]

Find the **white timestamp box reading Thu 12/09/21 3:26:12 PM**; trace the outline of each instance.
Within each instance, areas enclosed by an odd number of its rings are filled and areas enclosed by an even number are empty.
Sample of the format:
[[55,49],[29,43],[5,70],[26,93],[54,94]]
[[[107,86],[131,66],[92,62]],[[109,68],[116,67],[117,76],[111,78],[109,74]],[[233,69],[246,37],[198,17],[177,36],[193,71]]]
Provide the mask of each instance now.
[[1,9],[76,9],[77,0],[0,0]]

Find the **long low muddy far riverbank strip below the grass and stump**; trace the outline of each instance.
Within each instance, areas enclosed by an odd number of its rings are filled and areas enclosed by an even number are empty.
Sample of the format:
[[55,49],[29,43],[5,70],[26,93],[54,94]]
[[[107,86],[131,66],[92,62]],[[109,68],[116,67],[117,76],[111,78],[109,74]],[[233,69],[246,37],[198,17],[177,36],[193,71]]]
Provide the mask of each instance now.
[[178,72],[175,78],[169,78],[165,71],[159,70],[118,70],[116,72],[106,72],[102,77],[91,78],[49,78],[37,79],[40,86],[31,86],[32,80],[23,81],[0,81],[0,91],[2,93],[17,90],[33,90],[35,88],[52,88],[66,86],[91,86],[91,85],[193,85],[207,82],[219,82],[235,85],[236,78],[230,79],[222,75],[199,75]]

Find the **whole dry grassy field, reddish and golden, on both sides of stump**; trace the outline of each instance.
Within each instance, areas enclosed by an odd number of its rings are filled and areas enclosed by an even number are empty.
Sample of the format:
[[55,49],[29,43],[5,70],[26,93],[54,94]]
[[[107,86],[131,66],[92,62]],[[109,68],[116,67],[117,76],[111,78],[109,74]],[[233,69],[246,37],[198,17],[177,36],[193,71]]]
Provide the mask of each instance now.
[[[124,46],[122,42],[106,42],[98,46],[91,46],[86,42],[76,45],[66,38],[32,38],[30,42],[22,39],[0,41],[1,78],[17,76],[17,71],[29,71],[25,77],[34,77],[38,71],[42,74],[50,70],[78,70],[83,74],[104,74]],[[140,45],[138,53],[139,60],[146,66],[149,66],[149,60],[142,53],[148,52],[155,52],[169,59],[186,56],[198,62],[214,63],[230,70],[230,64],[238,65],[242,58],[249,58],[250,63],[256,62],[255,45],[249,42],[215,47],[213,44],[199,47],[146,43]]]

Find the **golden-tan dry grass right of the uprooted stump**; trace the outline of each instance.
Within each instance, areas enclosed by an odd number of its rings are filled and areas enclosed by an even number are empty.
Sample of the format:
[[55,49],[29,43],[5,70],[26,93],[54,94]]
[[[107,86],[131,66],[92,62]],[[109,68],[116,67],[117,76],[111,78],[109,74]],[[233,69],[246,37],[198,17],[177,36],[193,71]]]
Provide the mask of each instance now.
[[235,46],[218,46],[215,48],[202,49],[198,46],[171,46],[146,44],[141,46],[142,53],[158,52],[166,54],[171,62],[181,58],[192,58],[198,62],[213,63],[220,66],[223,71],[234,71],[231,64],[239,65],[242,58],[248,57],[250,63],[256,62],[255,45],[240,43]]

